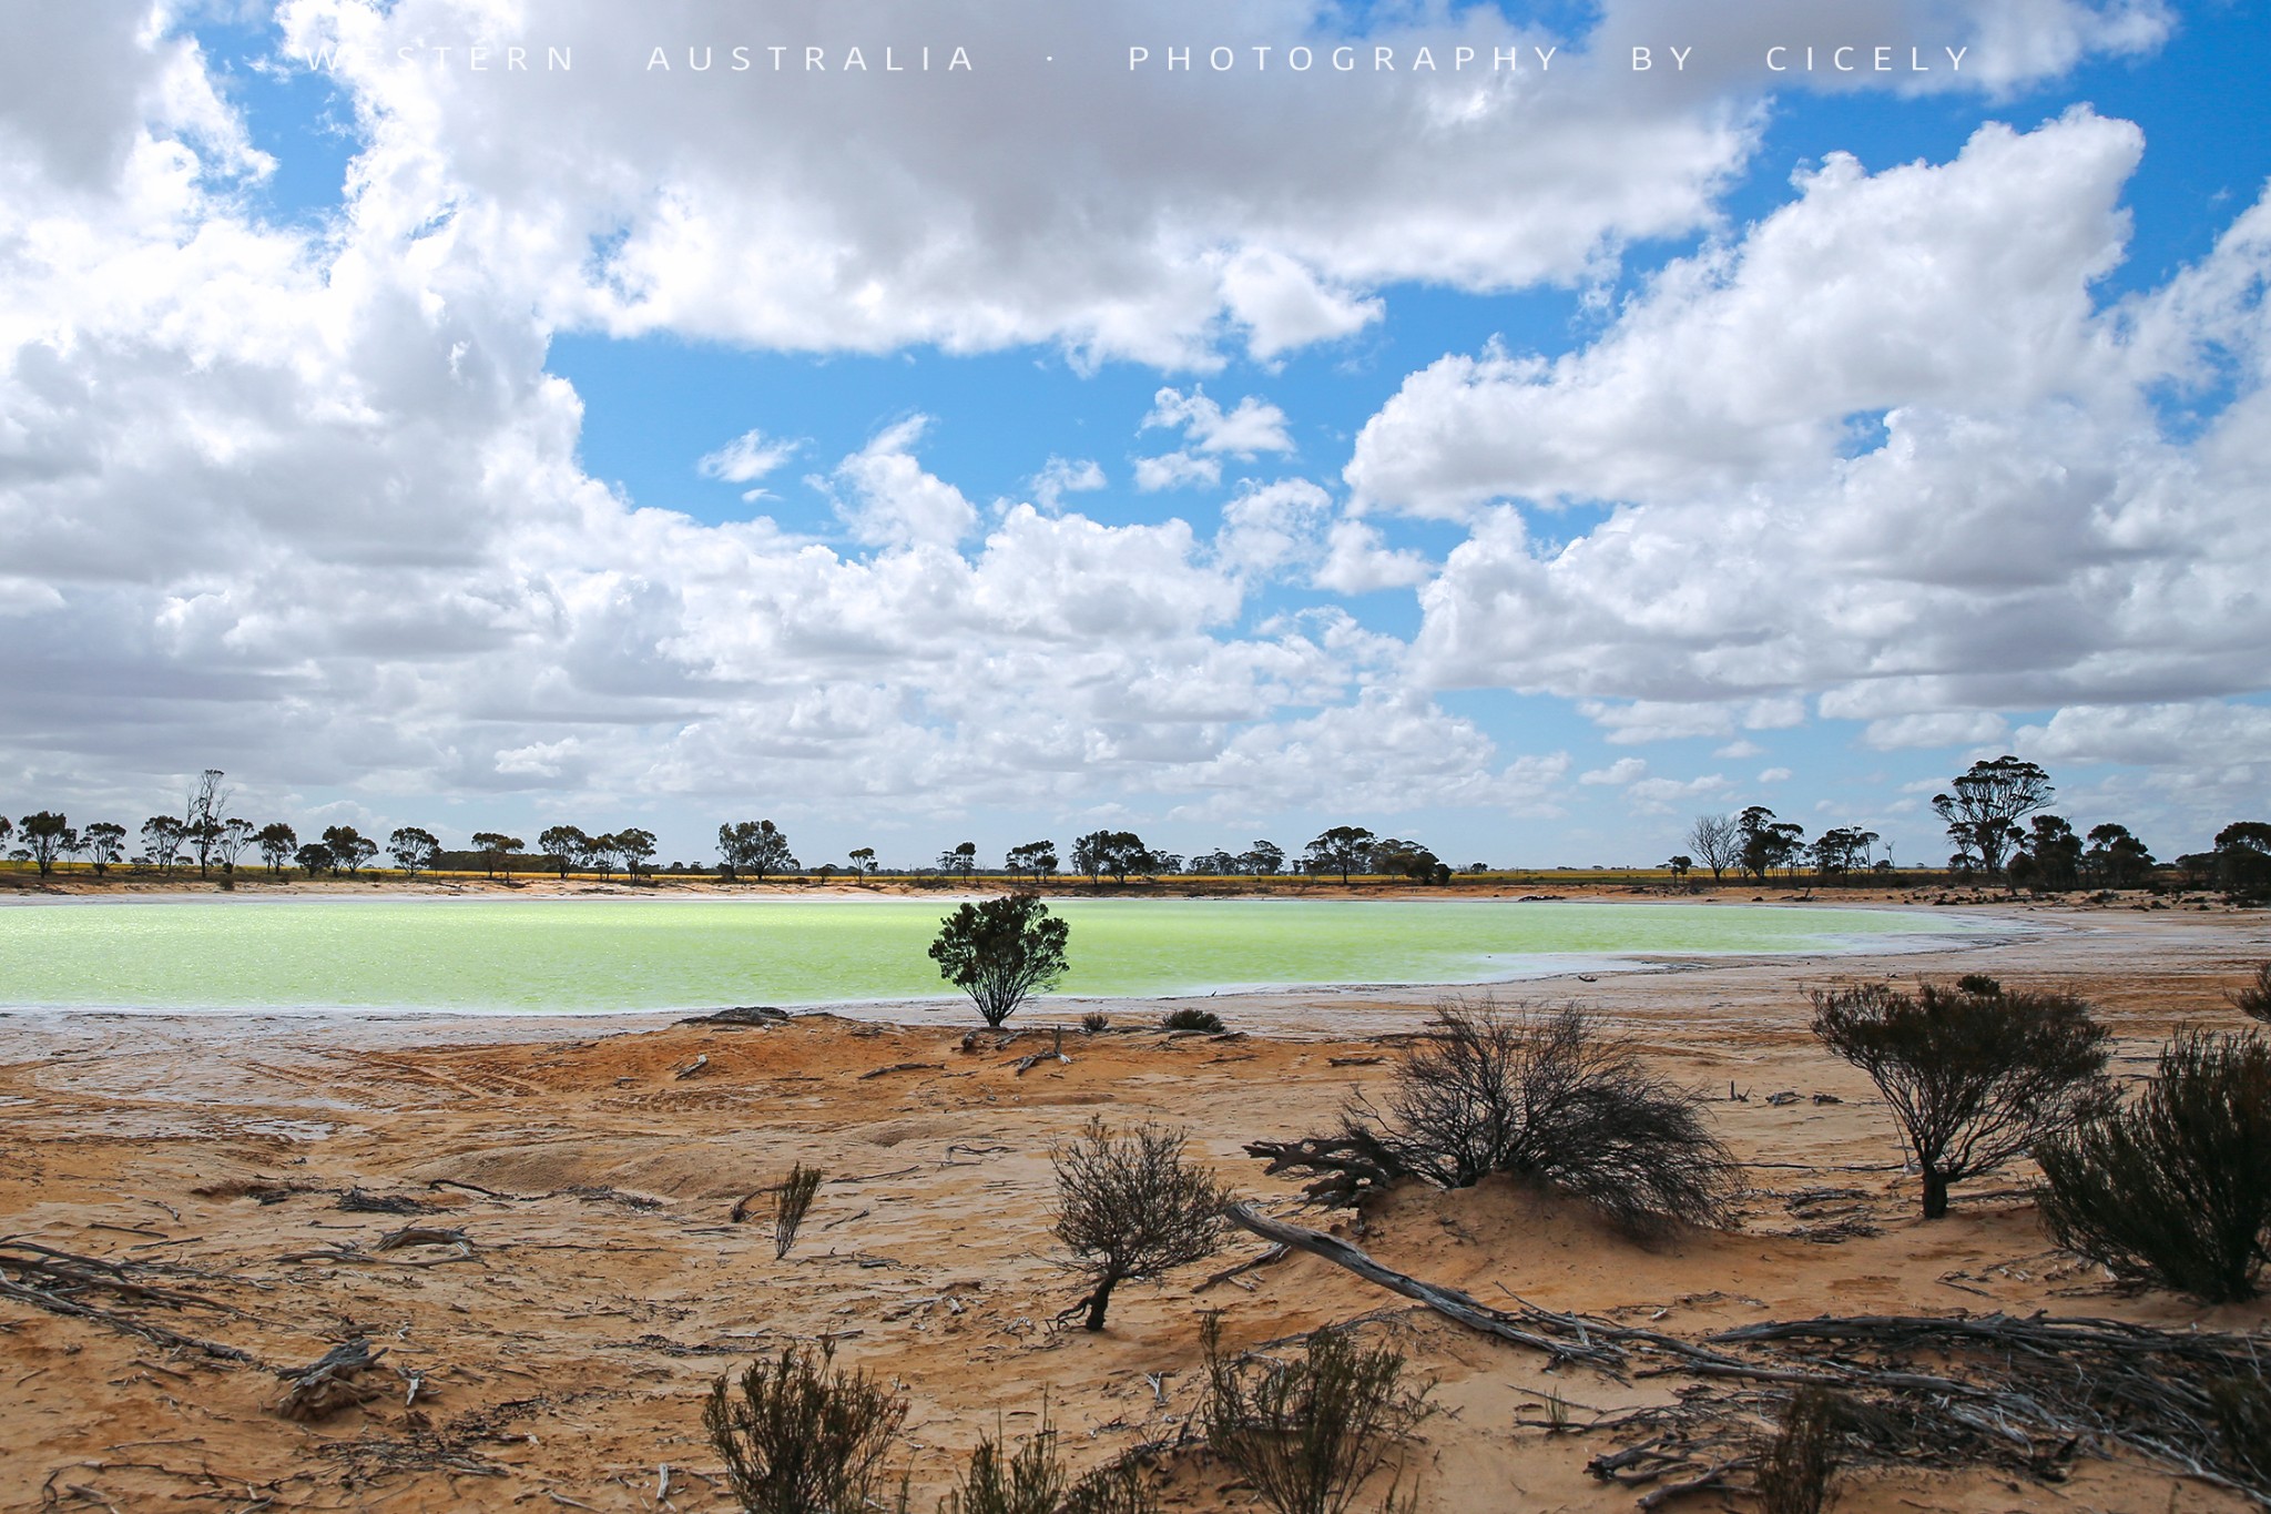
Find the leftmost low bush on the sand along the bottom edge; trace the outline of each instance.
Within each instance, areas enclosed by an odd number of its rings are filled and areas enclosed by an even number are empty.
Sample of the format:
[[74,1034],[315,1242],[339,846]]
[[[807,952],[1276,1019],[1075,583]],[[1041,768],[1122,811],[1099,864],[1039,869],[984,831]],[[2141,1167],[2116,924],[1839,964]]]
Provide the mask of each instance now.
[[865,1514],[883,1484],[883,1453],[906,1421],[906,1398],[836,1371],[836,1344],[783,1346],[738,1382],[718,1378],[702,1428],[749,1514]]

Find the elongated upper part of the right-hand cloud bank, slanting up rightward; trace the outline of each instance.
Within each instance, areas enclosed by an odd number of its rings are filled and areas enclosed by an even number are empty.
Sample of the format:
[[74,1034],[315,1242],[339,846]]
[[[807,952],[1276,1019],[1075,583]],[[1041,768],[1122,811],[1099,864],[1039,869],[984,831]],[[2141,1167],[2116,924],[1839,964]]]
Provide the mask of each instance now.
[[2119,259],[2142,148],[2137,127],[2076,111],[1989,125],[1944,166],[1869,175],[1833,154],[1740,243],[1656,275],[1603,340],[1406,379],[1349,483],[1422,515],[1692,499],[1819,470],[1855,413],[2014,411],[2103,379],[2089,286]]

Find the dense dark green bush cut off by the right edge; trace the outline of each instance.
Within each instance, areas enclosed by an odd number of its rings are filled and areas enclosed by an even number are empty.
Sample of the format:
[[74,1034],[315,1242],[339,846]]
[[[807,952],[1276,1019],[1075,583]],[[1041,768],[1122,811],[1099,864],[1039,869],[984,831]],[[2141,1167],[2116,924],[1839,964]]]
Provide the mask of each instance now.
[[2207,1303],[2253,1298],[2271,1262],[2271,1046],[2178,1035],[2135,1101],[2035,1158],[2060,1246]]

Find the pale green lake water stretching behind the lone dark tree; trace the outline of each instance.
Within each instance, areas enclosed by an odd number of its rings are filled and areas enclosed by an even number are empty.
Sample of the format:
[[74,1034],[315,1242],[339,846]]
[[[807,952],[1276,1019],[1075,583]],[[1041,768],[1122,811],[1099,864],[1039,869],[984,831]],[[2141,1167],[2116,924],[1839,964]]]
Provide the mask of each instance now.
[[[942,901],[388,899],[0,908],[0,1006],[670,1010],[936,999]],[[1074,899],[1061,994],[1488,983],[1633,953],[1815,953],[1953,933],[1896,910]],[[1924,944],[1910,940],[1908,944]]]

